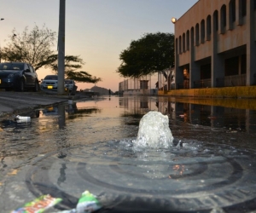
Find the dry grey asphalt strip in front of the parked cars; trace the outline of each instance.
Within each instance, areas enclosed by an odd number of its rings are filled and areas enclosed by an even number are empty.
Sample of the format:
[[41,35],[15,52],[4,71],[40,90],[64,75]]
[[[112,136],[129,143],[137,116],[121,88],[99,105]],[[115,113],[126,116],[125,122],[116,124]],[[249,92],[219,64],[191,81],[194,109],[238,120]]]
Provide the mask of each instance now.
[[35,107],[49,106],[67,100],[77,99],[78,95],[49,95],[43,92],[0,91],[0,120],[12,114],[32,111]]

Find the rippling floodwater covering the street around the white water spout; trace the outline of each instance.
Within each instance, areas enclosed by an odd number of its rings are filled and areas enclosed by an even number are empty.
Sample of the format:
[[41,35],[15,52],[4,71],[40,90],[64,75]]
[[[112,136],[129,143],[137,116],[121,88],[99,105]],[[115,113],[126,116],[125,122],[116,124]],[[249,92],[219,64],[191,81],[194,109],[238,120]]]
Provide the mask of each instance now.
[[[28,123],[5,119],[1,212],[48,193],[63,199],[49,212],[72,209],[85,190],[98,196],[99,212],[256,210],[254,106],[253,100],[105,96],[38,108]],[[173,147],[135,152],[139,122],[149,111],[169,117]]]

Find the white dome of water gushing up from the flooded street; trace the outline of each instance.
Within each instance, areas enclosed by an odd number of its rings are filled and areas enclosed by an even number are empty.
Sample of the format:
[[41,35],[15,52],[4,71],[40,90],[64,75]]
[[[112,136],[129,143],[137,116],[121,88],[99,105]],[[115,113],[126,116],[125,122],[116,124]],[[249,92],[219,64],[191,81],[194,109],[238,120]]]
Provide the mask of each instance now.
[[133,149],[169,148],[172,147],[173,136],[169,128],[169,118],[161,112],[150,111],[140,120],[137,139]]

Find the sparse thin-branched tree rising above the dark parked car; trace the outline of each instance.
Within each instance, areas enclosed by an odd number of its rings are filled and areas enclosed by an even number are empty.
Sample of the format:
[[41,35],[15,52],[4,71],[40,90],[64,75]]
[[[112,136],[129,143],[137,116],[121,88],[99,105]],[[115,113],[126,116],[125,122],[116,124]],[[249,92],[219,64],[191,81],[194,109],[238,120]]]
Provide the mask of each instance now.
[[37,25],[28,31],[28,27],[20,34],[14,29],[9,36],[10,42],[1,49],[1,57],[7,61],[23,61],[32,64],[35,70],[40,66],[38,63],[53,54],[51,50],[55,44],[56,33],[43,26]]

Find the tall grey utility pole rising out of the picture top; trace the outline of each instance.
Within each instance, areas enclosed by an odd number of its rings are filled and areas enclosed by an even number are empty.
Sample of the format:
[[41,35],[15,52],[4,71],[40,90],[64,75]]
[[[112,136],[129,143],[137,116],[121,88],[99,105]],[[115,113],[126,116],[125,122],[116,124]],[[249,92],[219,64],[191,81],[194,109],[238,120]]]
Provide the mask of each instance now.
[[65,89],[64,89],[65,12],[66,12],[66,0],[60,0],[59,36],[58,36],[58,95],[63,95],[65,93]]

